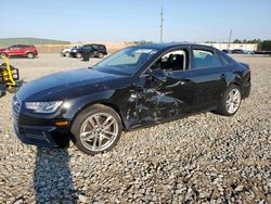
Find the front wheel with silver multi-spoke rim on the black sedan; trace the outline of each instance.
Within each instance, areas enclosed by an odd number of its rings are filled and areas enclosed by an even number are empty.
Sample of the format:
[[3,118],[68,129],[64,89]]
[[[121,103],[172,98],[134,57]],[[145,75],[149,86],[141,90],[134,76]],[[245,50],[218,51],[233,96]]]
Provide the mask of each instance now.
[[80,151],[95,155],[112,150],[121,131],[119,115],[112,107],[96,104],[76,117],[72,126],[72,139]]

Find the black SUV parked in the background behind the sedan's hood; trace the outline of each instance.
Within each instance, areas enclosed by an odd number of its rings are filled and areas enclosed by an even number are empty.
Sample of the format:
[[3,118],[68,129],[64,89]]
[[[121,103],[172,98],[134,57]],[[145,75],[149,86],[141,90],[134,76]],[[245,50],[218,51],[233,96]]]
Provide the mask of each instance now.
[[102,59],[104,55],[107,54],[106,47],[104,44],[83,44],[80,48],[74,48],[70,51],[70,56],[80,59],[85,54],[85,52],[88,52],[90,58],[100,58]]

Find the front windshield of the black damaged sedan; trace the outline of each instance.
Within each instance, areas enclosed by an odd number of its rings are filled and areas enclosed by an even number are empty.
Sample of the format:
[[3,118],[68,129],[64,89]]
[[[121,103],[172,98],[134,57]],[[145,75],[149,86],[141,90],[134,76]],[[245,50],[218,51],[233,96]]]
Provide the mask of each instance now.
[[106,58],[92,68],[100,72],[132,75],[145,64],[157,50],[131,47]]

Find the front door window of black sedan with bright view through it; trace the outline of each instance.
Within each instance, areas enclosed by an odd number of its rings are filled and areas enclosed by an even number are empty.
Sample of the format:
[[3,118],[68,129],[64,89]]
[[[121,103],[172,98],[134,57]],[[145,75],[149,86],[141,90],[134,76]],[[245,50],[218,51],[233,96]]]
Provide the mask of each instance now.
[[163,69],[176,72],[186,69],[186,51],[176,50],[164,54],[153,66],[152,69]]

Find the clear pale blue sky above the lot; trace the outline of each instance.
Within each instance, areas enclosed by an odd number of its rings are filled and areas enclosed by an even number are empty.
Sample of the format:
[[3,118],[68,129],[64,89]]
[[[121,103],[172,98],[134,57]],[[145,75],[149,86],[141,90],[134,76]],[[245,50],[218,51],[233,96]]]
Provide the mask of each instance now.
[[68,41],[271,39],[271,0],[1,0],[0,38]]

